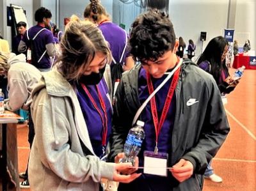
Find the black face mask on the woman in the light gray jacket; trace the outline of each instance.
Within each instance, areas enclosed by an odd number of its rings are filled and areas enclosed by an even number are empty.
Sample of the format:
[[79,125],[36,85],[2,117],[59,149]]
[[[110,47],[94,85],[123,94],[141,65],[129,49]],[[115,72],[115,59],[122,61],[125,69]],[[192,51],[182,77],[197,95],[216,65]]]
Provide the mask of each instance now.
[[99,73],[92,72],[90,75],[81,75],[80,79],[78,80],[79,83],[84,85],[96,85],[99,84],[100,80],[103,77],[105,72],[106,65],[104,68],[99,70]]

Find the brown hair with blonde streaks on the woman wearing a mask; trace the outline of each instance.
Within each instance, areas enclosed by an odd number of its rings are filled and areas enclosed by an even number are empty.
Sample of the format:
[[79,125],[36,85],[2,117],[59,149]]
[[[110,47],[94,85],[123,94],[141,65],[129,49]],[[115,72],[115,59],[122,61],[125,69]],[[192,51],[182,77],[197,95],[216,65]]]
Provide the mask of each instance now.
[[111,52],[102,32],[92,22],[74,20],[68,23],[61,38],[61,56],[58,68],[68,81],[78,80],[92,62],[96,52],[106,55],[111,62]]

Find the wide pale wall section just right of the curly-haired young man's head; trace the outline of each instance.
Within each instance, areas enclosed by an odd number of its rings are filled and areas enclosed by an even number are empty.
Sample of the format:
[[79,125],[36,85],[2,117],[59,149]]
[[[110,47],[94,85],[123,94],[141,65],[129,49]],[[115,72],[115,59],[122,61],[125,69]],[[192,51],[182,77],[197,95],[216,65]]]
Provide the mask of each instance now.
[[202,51],[201,31],[207,32],[203,50],[209,40],[223,35],[227,27],[228,0],[172,0],[169,15],[177,38],[182,36],[187,46],[189,39],[196,43],[196,59]]

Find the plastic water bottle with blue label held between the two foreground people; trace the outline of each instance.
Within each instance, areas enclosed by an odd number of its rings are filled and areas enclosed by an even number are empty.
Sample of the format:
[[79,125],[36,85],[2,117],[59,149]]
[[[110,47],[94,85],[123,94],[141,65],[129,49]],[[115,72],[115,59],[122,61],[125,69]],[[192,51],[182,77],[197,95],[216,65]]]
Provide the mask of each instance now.
[[136,126],[130,129],[124,144],[125,157],[122,158],[121,162],[132,162],[134,164],[134,160],[140,153],[141,145],[145,138],[143,126],[143,121],[137,121]]

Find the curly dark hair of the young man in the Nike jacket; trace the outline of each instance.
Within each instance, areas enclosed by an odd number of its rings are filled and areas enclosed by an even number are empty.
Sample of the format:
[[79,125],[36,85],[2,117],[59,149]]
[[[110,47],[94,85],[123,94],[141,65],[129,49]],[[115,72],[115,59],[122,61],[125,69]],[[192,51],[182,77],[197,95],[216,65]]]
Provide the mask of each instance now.
[[132,24],[129,49],[140,60],[156,61],[168,50],[173,50],[175,33],[166,13],[148,10]]

